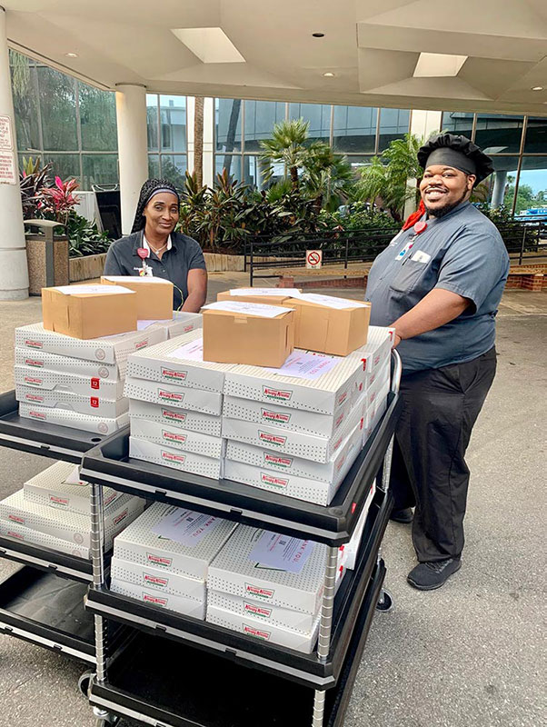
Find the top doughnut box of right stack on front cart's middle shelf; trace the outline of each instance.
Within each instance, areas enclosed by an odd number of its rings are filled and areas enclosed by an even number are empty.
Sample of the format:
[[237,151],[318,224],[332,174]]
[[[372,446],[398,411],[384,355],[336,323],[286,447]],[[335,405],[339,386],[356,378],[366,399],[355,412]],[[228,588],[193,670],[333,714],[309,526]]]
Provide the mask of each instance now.
[[300,573],[269,568],[250,560],[262,528],[239,525],[209,567],[207,588],[233,593],[253,603],[266,603],[315,614],[321,606],[327,548],[310,543],[312,551]]

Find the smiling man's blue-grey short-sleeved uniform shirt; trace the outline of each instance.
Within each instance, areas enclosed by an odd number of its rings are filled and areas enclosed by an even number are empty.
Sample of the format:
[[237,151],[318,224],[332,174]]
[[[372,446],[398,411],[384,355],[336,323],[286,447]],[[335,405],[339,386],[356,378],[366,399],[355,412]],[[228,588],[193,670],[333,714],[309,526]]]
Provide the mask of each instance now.
[[469,202],[426,222],[422,234],[411,227],[396,235],[374,261],[365,293],[372,304],[371,324],[393,324],[433,288],[472,304],[450,323],[402,341],[397,350],[403,373],[472,361],[489,351],[509,273],[501,234]]

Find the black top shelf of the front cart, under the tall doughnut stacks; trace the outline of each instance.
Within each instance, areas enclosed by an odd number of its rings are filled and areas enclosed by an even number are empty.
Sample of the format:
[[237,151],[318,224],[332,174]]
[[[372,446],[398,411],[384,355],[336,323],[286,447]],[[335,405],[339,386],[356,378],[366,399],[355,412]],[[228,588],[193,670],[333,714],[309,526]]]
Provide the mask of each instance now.
[[390,394],[388,410],[359,454],[328,507],[304,503],[279,493],[269,493],[230,480],[181,473],[160,464],[129,457],[129,434],[113,435],[86,453],[82,479],[125,493],[191,507],[233,520],[266,527],[275,533],[305,537],[338,546],[347,543],[363,509],[373,479],[393,437],[402,402]]

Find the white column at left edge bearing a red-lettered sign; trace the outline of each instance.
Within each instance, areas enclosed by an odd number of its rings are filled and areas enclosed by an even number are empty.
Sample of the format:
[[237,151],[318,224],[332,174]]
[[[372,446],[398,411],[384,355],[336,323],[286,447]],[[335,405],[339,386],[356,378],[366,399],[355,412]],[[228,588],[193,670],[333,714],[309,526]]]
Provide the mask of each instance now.
[[[26,264],[23,207],[17,171],[17,144],[12,85],[5,35],[5,9],[0,6],[0,300],[20,301],[28,297],[28,267]],[[11,176],[11,178],[10,178]]]

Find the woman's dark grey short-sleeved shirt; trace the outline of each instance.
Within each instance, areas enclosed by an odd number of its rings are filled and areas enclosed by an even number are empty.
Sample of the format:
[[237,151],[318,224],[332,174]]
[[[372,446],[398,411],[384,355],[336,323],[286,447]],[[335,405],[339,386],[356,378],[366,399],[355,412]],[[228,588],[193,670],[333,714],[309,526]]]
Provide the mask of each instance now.
[[[106,255],[104,274],[139,275],[143,261],[137,250],[144,246],[143,238],[141,231],[111,244]],[[171,248],[165,250],[161,260],[150,251],[146,264],[152,268],[154,277],[170,280],[174,284],[174,310],[178,310],[188,297],[188,271],[195,268],[206,270],[202,248],[192,237],[181,233],[171,234]]]

